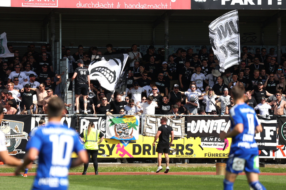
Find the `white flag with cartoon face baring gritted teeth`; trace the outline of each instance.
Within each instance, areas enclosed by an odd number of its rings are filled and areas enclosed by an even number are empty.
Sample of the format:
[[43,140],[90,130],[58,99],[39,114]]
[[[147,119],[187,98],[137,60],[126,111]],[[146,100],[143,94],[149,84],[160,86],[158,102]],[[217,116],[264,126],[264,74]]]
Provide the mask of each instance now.
[[88,68],[89,79],[98,80],[102,87],[109,91],[114,91],[127,58],[128,54],[92,56],[92,61]]

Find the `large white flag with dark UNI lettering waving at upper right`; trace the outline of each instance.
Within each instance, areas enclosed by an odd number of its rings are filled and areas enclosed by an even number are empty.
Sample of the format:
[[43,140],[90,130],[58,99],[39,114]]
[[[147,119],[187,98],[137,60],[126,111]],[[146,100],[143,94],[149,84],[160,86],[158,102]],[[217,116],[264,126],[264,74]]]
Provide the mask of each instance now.
[[210,43],[219,60],[220,71],[238,65],[240,44],[237,10],[230,11],[209,25]]

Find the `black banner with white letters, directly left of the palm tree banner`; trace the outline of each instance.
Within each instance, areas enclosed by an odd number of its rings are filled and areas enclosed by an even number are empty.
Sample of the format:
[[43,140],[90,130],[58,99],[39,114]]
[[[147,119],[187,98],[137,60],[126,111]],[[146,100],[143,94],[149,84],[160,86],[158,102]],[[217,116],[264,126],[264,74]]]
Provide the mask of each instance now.
[[87,129],[88,123],[92,122],[94,123],[94,127],[96,129],[99,129],[105,137],[105,128],[106,128],[106,116],[100,116],[100,117],[80,117],[79,118],[79,134],[81,134],[84,129]]

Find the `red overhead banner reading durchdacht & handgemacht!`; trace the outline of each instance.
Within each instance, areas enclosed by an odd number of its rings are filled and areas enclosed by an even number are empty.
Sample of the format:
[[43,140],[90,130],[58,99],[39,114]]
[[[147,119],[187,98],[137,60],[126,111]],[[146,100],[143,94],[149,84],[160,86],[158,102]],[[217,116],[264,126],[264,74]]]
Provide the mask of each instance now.
[[11,7],[190,9],[191,3],[190,0],[11,0]]

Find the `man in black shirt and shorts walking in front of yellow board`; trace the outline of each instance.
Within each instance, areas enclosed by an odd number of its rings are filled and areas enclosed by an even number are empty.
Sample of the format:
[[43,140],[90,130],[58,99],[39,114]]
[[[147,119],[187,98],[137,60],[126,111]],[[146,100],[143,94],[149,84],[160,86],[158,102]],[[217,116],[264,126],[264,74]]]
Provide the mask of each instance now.
[[[166,125],[167,118],[162,117],[160,120],[161,126],[158,128],[158,131],[156,133],[153,146],[155,146],[156,140],[159,138],[158,145],[156,148],[156,152],[158,152],[158,169],[156,170],[156,173],[160,172],[163,168],[161,166],[162,161],[162,153],[164,152],[165,160],[166,160],[166,170],[164,173],[168,173],[169,171],[169,156],[168,153],[170,152],[169,148],[172,146],[172,142],[174,139],[174,132],[172,127],[169,125]],[[171,142],[169,135],[171,134]]]

